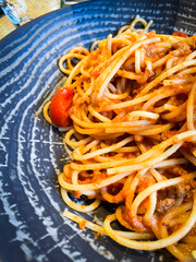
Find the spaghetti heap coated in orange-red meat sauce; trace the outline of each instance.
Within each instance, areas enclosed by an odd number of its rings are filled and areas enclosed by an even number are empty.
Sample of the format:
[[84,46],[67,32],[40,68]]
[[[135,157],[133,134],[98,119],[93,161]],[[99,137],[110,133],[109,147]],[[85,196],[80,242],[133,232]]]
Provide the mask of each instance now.
[[[144,29],[136,29],[140,22]],[[64,142],[72,162],[59,176],[64,202],[89,212],[119,204],[102,226],[64,211],[82,227],[138,250],[167,248],[196,257],[196,36],[148,32],[136,16],[90,51],[75,47],[60,61],[73,91],[73,126]],[[98,48],[96,46],[98,45]],[[77,59],[76,66],[73,61]],[[52,103],[52,102],[51,102]],[[50,102],[44,109],[50,118]],[[95,199],[79,205],[70,198]],[[118,221],[126,230],[114,230]],[[128,229],[128,231],[127,231]]]

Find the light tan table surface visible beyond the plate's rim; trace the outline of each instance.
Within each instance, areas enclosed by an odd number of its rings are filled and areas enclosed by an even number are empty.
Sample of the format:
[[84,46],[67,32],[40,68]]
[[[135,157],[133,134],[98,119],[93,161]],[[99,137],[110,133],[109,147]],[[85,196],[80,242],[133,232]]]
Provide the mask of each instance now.
[[[71,5],[71,4],[75,4],[78,2],[83,2],[84,0],[75,0],[75,1],[65,1],[65,7]],[[53,5],[51,4],[51,8],[49,8],[49,10],[47,10],[47,12],[53,11]],[[12,22],[5,16],[2,15],[0,17],[0,39],[2,39],[4,36],[7,36],[8,34],[10,34],[11,32],[13,32],[16,27],[12,24]]]

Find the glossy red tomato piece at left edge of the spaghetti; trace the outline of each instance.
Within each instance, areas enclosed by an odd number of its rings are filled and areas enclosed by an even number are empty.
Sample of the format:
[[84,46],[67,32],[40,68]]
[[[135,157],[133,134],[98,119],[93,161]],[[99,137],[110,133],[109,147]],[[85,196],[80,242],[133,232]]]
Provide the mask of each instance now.
[[50,118],[58,127],[70,124],[70,107],[73,98],[73,90],[61,87],[51,99]]

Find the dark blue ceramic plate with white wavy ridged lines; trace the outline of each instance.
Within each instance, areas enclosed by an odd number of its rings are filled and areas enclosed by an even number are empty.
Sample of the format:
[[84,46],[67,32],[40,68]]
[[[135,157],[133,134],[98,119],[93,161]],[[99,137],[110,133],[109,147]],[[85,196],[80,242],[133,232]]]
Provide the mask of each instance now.
[[[158,33],[196,33],[195,0],[89,1],[44,15],[0,41],[0,261],[158,262],[167,251],[128,250],[61,216],[57,176],[69,159],[42,105],[63,79],[58,58],[134,19],[154,20]],[[112,207],[95,212],[102,221]],[[93,214],[84,215],[86,218]]]

